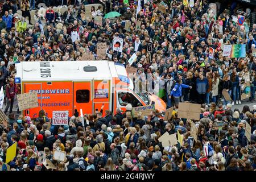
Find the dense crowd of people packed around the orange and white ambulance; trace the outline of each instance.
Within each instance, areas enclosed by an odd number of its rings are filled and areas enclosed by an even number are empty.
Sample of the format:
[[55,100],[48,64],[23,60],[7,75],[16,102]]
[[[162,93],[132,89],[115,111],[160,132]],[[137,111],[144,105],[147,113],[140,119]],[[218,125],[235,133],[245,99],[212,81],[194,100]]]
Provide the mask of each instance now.
[[[36,9],[46,3],[46,13]],[[208,0],[191,1],[4,1],[0,4],[0,86],[5,88],[8,125],[0,125],[0,160],[17,142],[17,154],[9,166],[12,170],[47,170],[42,163],[48,159],[59,171],[252,171],[256,168],[256,106],[241,104],[241,85],[250,84],[250,102],[255,102],[256,24],[251,7],[242,11],[237,2]],[[85,5],[92,6],[92,18],[83,19]],[[141,9],[137,9],[141,4]],[[166,8],[166,13],[159,9]],[[65,7],[62,14],[54,6]],[[35,10],[31,17],[31,10]],[[138,11],[139,10],[139,11]],[[21,15],[18,12],[21,11]],[[117,11],[121,16],[94,23],[96,16]],[[233,16],[245,16],[239,26]],[[31,19],[34,18],[32,23]],[[125,30],[130,20],[130,31]],[[141,21],[141,26],[135,27]],[[122,52],[113,51],[113,39],[123,39]],[[174,106],[172,118],[164,121],[162,113],[139,114],[133,118],[131,105],[117,114],[101,110],[84,115],[85,127],[79,113],[69,124],[52,126],[44,110],[38,118],[15,118],[13,104],[20,86],[14,83],[15,64],[21,61],[75,61],[83,54],[96,60],[97,44],[106,42],[106,59],[127,66],[135,53],[131,67],[138,68],[134,82],[153,85],[147,91],[157,94]],[[152,43],[148,52],[146,43]],[[246,56],[223,56],[224,45],[245,44]],[[214,55],[209,58],[209,48]],[[152,77],[151,83],[148,79]],[[158,85],[158,86],[157,86]],[[226,90],[232,97],[222,96]],[[201,104],[200,121],[178,118],[179,102]],[[103,116],[104,117],[103,117]],[[223,121],[220,129],[215,122]],[[191,136],[192,122],[197,127],[197,139]],[[245,135],[251,126],[250,142]],[[159,138],[166,133],[183,135],[182,142],[163,147]],[[65,151],[64,161],[53,159],[53,150]],[[51,169],[50,169],[51,170]]]

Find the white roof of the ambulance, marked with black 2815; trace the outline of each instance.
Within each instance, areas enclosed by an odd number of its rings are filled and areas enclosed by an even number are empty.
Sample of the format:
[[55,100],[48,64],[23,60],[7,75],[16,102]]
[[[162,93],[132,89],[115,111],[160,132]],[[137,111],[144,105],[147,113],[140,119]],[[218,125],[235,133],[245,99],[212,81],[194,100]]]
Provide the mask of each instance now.
[[15,64],[21,81],[76,81],[127,77],[125,67],[113,61],[31,61]]

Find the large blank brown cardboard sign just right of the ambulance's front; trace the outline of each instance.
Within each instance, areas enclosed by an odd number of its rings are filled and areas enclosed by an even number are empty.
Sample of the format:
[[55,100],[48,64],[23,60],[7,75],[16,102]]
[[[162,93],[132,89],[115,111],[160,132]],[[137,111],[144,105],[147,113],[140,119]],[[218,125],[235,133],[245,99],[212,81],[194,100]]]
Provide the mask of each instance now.
[[179,118],[200,120],[201,105],[179,102]]

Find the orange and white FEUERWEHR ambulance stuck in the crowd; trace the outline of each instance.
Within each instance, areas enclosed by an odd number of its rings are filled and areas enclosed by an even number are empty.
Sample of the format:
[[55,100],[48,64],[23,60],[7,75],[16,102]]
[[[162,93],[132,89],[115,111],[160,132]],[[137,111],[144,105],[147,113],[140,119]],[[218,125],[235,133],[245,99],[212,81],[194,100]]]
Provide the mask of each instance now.
[[42,109],[49,118],[52,111],[68,111],[71,117],[80,109],[83,114],[95,113],[102,105],[115,114],[117,107],[125,111],[128,103],[166,110],[158,96],[135,93],[125,67],[113,61],[31,61],[15,66],[15,83],[21,84],[22,93],[38,93],[38,107],[23,111],[32,118]]

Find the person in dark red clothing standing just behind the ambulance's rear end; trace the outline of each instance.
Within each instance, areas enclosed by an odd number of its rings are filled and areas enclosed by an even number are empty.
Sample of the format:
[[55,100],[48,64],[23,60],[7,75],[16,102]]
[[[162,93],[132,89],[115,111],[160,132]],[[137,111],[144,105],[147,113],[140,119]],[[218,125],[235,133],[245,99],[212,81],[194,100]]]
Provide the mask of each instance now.
[[9,83],[6,85],[6,103],[7,106],[5,107],[5,114],[7,113],[7,110],[10,107],[10,113],[13,113],[13,102],[14,102],[14,98],[16,96],[17,93],[17,89],[16,86],[14,84],[14,79],[10,78]]

